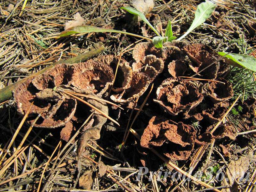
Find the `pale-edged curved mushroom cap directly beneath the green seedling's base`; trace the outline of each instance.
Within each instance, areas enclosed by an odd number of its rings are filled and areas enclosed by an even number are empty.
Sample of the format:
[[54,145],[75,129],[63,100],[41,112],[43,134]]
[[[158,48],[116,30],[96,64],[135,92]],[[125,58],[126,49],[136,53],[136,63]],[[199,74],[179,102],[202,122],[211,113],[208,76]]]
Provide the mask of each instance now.
[[132,57],[137,63],[143,63],[147,55],[155,55],[157,58],[160,58],[161,49],[157,49],[151,42],[143,42],[135,45],[132,51]]

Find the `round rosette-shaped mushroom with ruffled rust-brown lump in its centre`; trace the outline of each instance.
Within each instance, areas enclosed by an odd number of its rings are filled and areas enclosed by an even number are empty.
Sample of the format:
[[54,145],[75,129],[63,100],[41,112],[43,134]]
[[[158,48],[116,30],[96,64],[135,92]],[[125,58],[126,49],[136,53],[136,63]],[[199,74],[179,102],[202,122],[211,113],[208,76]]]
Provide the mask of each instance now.
[[177,115],[195,108],[203,100],[203,95],[190,82],[168,78],[156,90],[154,101],[169,114]]

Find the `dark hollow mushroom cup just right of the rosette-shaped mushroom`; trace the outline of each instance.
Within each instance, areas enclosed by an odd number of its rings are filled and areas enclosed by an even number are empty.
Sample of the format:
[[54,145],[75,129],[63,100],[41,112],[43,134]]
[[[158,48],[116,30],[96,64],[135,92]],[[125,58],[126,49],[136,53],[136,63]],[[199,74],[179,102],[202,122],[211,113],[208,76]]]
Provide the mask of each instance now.
[[220,78],[218,79],[220,82],[211,82],[204,84],[203,90],[204,94],[209,97],[213,103],[219,103],[221,101],[229,100],[233,97],[233,88],[232,84],[227,80]]

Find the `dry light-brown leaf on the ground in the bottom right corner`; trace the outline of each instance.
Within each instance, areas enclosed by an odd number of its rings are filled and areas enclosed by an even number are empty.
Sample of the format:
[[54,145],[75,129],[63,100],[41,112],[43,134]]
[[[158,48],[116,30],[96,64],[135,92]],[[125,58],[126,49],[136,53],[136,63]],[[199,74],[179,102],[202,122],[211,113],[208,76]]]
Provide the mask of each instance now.
[[[230,171],[227,169],[224,180],[222,180],[222,185],[228,185],[230,188],[222,189],[222,192],[235,192],[238,190],[238,186],[236,182],[234,182],[234,177],[239,183],[239,179],[244,177],[245,172],[249,168],[250,156],[252,152],[250,151],[247,156],[241,156],[236,161],[232,160],[228,167]],[[234,177],[233,177],[234,176]]]

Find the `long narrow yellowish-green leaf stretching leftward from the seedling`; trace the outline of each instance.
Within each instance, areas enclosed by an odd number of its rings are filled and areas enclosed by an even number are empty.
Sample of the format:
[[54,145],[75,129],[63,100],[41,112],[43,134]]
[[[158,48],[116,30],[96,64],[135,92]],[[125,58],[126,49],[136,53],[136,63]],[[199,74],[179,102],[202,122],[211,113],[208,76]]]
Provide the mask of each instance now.
[[68,30],[61,32],[59,36],[64,37],[64,36],[69,36],[72,34],[92,33],[92,32],[94,32],[94,33],[106,33],[106,32],[122,33],[122,34],[131,35],[131,36],[135,36],[135,37],[139,37],[142,39],[147,39],[149,41],[152,41],[152,39],[150,39],[148,37],[136,35],[133,33],[128,33],[125,31],[119,31],[119,30],[115,30],[115,29],[105,29],[105,28],[100,28],[100,27],[95,27],[95,26],[90,26],[90,25],[80,25],[80,26],[69,28]]

